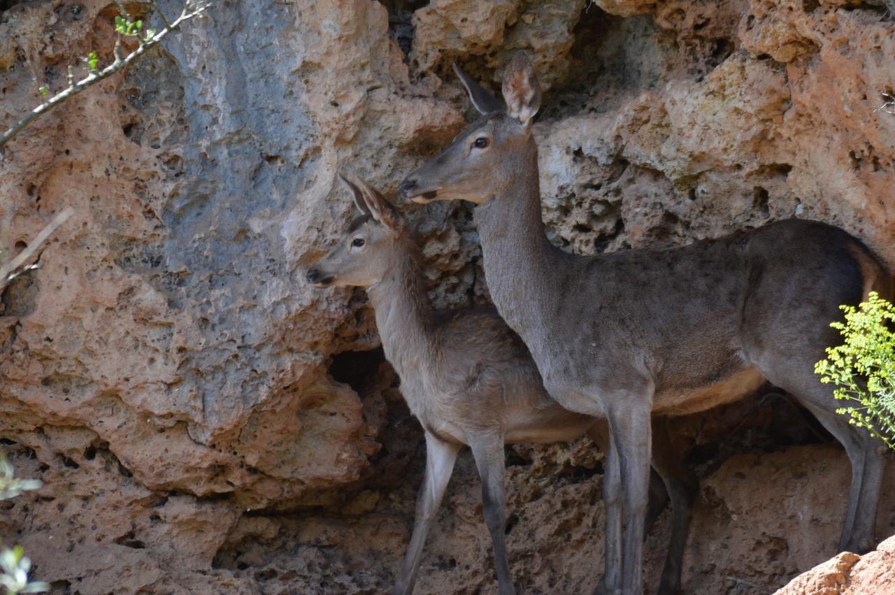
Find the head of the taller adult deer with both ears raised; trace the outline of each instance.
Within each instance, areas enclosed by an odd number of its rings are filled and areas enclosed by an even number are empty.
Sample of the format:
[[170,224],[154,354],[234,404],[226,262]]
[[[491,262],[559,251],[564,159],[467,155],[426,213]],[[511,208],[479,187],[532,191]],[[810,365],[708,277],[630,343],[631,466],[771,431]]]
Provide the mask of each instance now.
[[528,58],[519,53],[507,64],[506,108],[456,65],[454,71],[482,117],[401,183],[402,195],[421,204],[453,199],[482,204],[537,154],[532,120],[541,105],[541,86]]

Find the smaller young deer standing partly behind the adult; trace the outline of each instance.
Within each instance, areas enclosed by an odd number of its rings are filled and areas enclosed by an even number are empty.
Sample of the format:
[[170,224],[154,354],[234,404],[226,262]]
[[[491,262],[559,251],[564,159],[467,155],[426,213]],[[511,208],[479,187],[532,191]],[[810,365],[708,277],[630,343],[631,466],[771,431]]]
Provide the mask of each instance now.
[[[514,593],[507,564],[504,527],[504,444],[546,443],[588,432],[606,443],[605,424],[568,412],[550,399],[528,350],[494,310],[432,310],[422,277],[421,253],[404,217],[379,192],[357,179],[342,178],[362,212],[343,238],[307,278],[320,287],[366,287],[382,347],[401,378],[401,392],[422,424],[426,438],[426,477],[416,503],[413,537],[398,574],[395,593],[410,593],[422,557],[423,541],[447,487],[457,452],[473,450],[482,478],[485,522],[494,545],[499,592]],[[657,432],[664,436],[664,432]],[[672,539],[662,574],[663,589],[677,590],[695,480],[656,444],[653,463],[672,505]],[[664,505],[656,501],[658,510]],[[643,537],[643,536],[642,536]]]

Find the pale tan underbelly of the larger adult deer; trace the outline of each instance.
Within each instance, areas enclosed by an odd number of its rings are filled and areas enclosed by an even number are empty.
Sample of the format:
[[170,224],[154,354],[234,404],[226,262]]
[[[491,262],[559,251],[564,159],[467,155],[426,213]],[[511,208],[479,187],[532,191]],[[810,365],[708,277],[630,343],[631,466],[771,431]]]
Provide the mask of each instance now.
[[656,415],[689,415],[731,403],[752,393],[765,382],[754,368],[739,370],[712,384],[692,388],[669,388],[657,391],[652,400]]

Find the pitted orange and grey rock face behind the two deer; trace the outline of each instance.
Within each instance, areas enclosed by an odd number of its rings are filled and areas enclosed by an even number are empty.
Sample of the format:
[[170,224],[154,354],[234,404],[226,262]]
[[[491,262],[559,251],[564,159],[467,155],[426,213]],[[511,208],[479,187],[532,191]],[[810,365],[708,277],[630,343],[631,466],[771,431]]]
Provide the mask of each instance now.
[[[114,16],[94,0],[0,2],[0,126],[38,87],[64,87],[79,56],[109,59]],[[394,195],[470,114],[450,64],[499,89],[519,49],[544,85],[535,133],[558,245],[678,245],[806,217],[895,267],[882,2],[216,3],[4,148],[13,250],[75,208],[0,312],[0,444],[45,481],[4,504],[0,536],[34,574],[85,594],[388,587],[421,431],[363,293],[316,290],[303,271],[350,216],[337,172]],[[426,242],[433,301],[487,301],[469,208],[399,207]],[[679,426],[703,478],[686,591],[771,591],[834,553],[848,460],[816,424],[765,395]],[[507,456],[517,583],[592,588],[601,455]],[[886,494],[880,537],[895,530]],[[419,592],[488,592],[468,457],[446,500]],[[667,535],[661,520],[648,538],[650,585]],[[887,551],[822,572],[870,585],[857,569],[891,568]]]

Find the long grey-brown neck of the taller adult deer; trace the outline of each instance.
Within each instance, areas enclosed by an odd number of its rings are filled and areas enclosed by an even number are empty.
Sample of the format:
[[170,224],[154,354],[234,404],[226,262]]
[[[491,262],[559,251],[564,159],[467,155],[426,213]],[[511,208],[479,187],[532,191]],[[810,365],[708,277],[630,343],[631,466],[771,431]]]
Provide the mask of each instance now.
[[528,141],[516,175],[475,208],[474,219],[491,300],[528,344],[546,324],[545,313],[555,309],[556,276],[567,257],[544,233],[534,139]]

